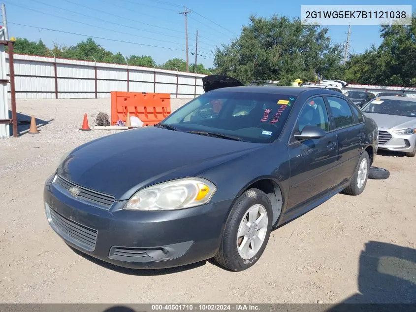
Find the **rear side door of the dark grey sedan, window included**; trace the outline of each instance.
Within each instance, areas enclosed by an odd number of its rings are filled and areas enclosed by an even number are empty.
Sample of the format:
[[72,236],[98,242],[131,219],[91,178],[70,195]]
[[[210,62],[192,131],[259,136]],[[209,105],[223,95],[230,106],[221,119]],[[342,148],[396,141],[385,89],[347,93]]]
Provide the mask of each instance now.
[[326,96],[337,135],[338,158],[334,171],[336,185],[349,180],[355,172],[364,144],[364,121],[352,113],[353,105],[337,96]]

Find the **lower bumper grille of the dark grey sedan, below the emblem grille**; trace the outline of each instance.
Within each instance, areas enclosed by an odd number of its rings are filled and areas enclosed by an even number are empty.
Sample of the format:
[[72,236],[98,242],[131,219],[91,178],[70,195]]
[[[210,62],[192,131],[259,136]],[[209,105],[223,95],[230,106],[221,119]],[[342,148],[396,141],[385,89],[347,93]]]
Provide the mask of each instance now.
[[51,225],[68,242],[88,251],[96,249],[98,231],[71,221],[54,209],[47,207],[50,214]]

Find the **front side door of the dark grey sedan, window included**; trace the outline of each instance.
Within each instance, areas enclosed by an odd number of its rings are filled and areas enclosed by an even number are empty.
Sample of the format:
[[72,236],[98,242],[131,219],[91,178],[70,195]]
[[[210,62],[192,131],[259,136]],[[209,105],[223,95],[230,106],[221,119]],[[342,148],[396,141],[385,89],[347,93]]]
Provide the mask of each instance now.
[[[320,139],[295,139],[294,134],[300,133],[306,125],[320,127],[325,136]],[[323,97],[308,99],[288,142],[290,191],[287,211],[304,207],[331,187],[337,150],[337,135],[331,132],[328,107]]]

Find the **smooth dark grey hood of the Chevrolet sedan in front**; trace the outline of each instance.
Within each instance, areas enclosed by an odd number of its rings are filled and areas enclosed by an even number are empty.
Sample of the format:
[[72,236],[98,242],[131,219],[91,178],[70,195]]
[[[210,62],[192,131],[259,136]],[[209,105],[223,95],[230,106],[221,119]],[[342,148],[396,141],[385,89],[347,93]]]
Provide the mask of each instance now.
[[124,200],[139,188],[194,176],[265,145],[145,127],[75,148],[57,173],[75,184]]

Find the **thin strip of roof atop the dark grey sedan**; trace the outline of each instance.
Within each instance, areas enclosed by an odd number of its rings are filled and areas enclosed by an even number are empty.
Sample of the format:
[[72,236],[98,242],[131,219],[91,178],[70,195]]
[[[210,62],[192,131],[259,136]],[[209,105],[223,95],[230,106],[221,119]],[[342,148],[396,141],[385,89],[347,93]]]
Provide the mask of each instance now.
[[339,92],[325,88],[311,87],[286,87],[286,86],[242,86],[242,87],[225,87],[215,89],[209,92],[247,92],[247,93],[268,93],[282,95],[299,95],[308,91],[314,91],[313,94],[339,95]]

